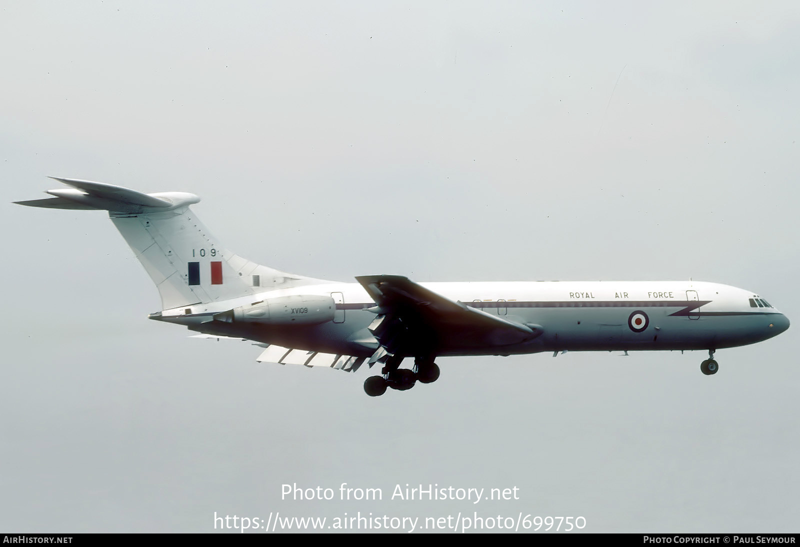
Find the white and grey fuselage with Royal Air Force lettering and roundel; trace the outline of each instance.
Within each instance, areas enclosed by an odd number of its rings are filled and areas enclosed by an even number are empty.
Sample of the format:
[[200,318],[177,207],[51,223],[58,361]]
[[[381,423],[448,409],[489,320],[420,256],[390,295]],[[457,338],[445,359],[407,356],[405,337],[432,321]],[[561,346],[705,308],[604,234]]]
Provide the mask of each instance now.
[[[704,281],[508,281],[420,283],[453,301],[522,325],[541,335],[522,343],[486,345],[462,337],[439,355],[510,355],[542,351],[721,349],[782,333],[789,320],[745,289]],[[214,313],[292,294],[330,295],[333,321],[321,325],[219,325]],[[163,321],[199,332],[267,344],[368,357],[377,347],[367,327],[375,303],[358,283],[278,289],[190,308],[165,310]],[[188,313],[187,313],[188,312]]]

